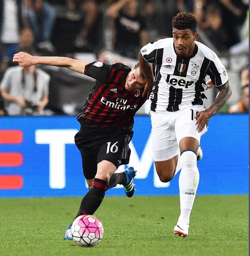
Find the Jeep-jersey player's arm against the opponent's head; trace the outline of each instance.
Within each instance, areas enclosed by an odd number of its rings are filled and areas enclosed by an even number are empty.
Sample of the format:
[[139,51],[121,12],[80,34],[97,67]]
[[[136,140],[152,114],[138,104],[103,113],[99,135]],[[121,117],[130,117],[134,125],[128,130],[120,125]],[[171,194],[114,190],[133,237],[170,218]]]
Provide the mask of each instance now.
[[150,93],[154,86],[154,74],[152,66],[150,63],[147,63],[147,61],[144,60],[141,52],[139,52],[139,62],[147,82],[146,86],[144,87],[143,97],[147,94],[147,99],[149,99]]

